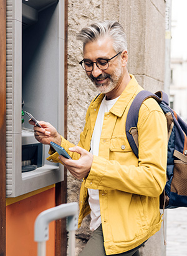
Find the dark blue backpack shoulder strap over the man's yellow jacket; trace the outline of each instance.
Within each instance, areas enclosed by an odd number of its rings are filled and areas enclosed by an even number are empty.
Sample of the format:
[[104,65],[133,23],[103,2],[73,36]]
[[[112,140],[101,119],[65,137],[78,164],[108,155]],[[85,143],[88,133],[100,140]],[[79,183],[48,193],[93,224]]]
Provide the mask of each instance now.
[[137,158],[138,158],[138,130],[137,130],[138,114],[143,101],[145,101],[150,97],[153,97],[158,103],[163,101],[163,97],[164,97],[165,103],[168,102],[168,96],[164,92],[159,91],[159,92],[156,92],[156,94],[153,94],[152,92],[143,90],[137,94],[127,114],[126,127],[125,127],[126,135],[127,135],[128,142],[132,147],[132,150]]

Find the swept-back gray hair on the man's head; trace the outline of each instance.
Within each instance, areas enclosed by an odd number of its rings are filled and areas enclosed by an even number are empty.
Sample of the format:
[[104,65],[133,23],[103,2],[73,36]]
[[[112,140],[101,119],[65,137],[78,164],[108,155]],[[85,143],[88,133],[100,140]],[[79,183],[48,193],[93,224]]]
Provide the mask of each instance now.
[[77,39],[83,42],[83,49],[87,42],[97,41],[100,37],[109,36],[113,40],[113,49],[116,52],[127,51],[127,38],[125,31],[117,21],[100,21],[84,27]]

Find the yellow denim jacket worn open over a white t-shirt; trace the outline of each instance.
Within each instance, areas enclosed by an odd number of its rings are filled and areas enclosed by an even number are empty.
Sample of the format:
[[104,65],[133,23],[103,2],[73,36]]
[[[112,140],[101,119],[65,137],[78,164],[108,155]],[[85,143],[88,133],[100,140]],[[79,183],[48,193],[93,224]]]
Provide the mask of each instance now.
[[[107,255],[120,254],[142,244],[161,227],[159,195],[166,183],[167,127],[165,115],[154,99],[147,99],[138,117],[139,159],[128,144],[125,121],[133,99],[142,88],[134,76],[110,112],[105,113],[99,155],[93,155],[90,173],[80,189],[79,226],[89,214],[87,189],[98,189],[104,246]],[[90,104],[79,146],[90,150],[93,127],[103,94]],[[73,159],[79,154],[62,137]],[[52,154],[52,152],[49,152]],[[48,160],[59,162],[58,154]]]

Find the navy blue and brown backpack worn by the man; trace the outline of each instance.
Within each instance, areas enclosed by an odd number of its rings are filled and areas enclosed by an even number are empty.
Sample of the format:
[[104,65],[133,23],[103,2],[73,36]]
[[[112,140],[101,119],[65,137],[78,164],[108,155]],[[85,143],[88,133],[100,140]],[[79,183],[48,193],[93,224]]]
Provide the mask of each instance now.
[[130,106],[126,121],[127,139],[138,158],[138,112],[145,99],[153,97],[163,110],[168,126],[167,182],[160,195],[160,209],[187,207],[187,124],[168,106],[168,96],[158,91],[140,91]]

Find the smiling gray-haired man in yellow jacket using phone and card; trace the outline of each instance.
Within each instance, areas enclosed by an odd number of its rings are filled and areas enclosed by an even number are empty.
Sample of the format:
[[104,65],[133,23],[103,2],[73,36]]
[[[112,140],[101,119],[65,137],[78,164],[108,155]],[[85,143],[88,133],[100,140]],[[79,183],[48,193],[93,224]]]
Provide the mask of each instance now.
[[[128,109],[142,90],[127,70],[127,41],[118,22],[98,22],[80,31],[87,76],[101,92],[91,102],[77,146],[46,122],[36,139],[62,145],[73,160],[52,148],[48,160],[62,162],[80,189],[79,226],[90,213],[93,235],[81,256],[138,256],[138,248],[161,227],[159,195],[166,182],[167,131],[163,112],[147,99],[138,117],[139,159],[125,134]],[[30,121],[33,124],[32,121]]]

